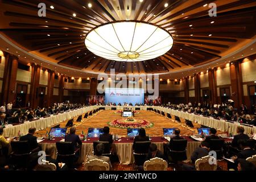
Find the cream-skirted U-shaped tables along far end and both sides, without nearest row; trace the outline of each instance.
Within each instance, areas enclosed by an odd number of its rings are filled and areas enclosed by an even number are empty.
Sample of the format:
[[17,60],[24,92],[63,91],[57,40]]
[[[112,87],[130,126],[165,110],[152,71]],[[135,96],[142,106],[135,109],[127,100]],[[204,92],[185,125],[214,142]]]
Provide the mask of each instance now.
[[240,123],[237,123],[237,122],[230,123],[230,122],[224,121],[222,119],[214,119],[211,117],[204,117],[203,115],[185,113],[183,111],[169,109],[167,107],[160,107],[160,106],[87,106],[87,107],[83,107],[81,109],[64,112],[62,114],[51,115],[50,117],[47,117],[47,118],[40,118],[38,120],[31,121],[31,122],[26,121],[20,125],[6,126],[6,128],[3,130],[3,135],[5,137],[15,137],[15,136],[18,136],[19,132],[22,134],[26,134],[30,127],[35,127],[37,130],[43,130],[43,129],[46,129],[47,127],[57,125],[58,123],[63,122],[67,119],[71,119],[73,117],[76,117],[77,115],[87,113],[91,110],[98,109],[100,107],[103,107],[105,110],[111,110],[111,109],[123,110],[124,108],[131,109],[131,110],[135,110],[135,109],[147,110],[148,108],[151,108],[151,109],[163,111],[164,113],[168,113],[171,115],[176,115],[177,117],[180,117],[183,119],[188,119],[189,121],[196,122],[201,125],[213,127],[214,129],[217,129],[220,131],[228,131],[228,133],[231,133],[233,135],[237,134],[236,133],[237,126],[244,127],[246,134],[256,133],[255,126],[253,126],[253,127],[245,126],[245,125],[241,125]]

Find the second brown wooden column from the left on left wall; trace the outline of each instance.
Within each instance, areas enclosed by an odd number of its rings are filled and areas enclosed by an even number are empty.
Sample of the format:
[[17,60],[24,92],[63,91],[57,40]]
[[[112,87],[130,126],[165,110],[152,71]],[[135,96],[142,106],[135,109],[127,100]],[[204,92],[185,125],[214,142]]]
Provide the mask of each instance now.
[[32,64],[31,87],[30,87],[30,107],[35,108],[39,105],[38,89],[40,80],[40,65]]

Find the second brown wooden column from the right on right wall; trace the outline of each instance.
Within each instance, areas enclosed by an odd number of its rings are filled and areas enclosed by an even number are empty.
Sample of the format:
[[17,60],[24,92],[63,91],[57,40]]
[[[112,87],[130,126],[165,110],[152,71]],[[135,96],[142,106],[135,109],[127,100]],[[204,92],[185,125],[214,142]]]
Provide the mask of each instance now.
[[208,70],[210,104],[217,104],[216,69]]

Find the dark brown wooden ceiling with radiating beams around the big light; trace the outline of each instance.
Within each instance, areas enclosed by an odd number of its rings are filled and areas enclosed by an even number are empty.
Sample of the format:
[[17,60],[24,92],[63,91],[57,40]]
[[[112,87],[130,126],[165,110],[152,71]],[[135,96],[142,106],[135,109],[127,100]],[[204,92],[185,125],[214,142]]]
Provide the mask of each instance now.
[[[40,2],[47,6],[46,17],[38,16]],[[217,5],[215,17],[208,14],[212,2]],[[10,40],[60,65],[93,72],[109,73],[115,68],[116,73],[163,73],[196,67],[219,59],[225,51],[253,38],[256,30],[254,0],[0,0],[0,3],[0,31]],[[88,3],[92,3],[91,8]],[[106,60],[86,49],[84,39],[92,28],[126,19],[165,28],[174,38],[173,47],[154,60],[135,63]]]

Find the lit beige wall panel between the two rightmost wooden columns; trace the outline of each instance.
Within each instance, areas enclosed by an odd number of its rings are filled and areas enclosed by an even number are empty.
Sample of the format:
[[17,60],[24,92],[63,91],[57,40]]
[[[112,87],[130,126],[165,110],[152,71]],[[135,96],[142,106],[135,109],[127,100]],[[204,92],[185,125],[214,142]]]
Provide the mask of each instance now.
[[216,83],[217,83],[217,86],[230,84],[230,69],[229,69],[229,67],[226,67],[223,69],[217,69]]

